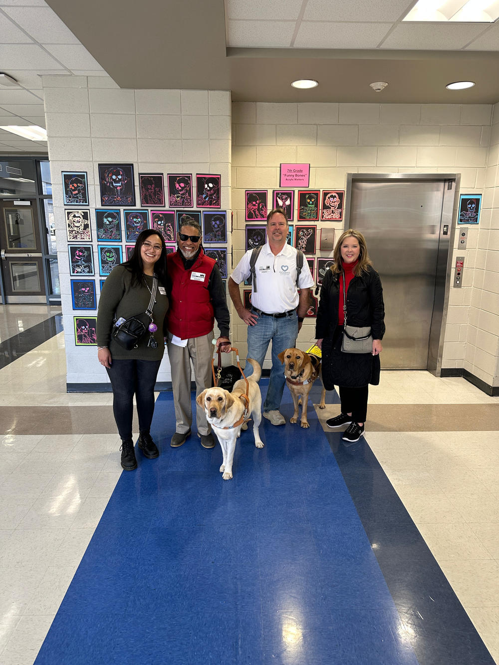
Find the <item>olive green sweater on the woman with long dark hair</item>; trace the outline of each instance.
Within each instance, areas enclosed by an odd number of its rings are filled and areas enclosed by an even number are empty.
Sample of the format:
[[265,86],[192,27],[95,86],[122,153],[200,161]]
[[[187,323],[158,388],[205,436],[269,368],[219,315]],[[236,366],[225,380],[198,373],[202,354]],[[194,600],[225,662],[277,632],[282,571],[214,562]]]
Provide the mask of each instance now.
[[[152,277],[144,275],[149,289],[152,289]],[[165,295],[160,293],[161,290]],[[150,301],[150,292],[142,285],[132,285],[132,274],[123,266],[118,265],[106,278],[100,300],[98,301],[97,313],[97,346],[108,346],[111,357],[116,360],[161,360],[164,354],[164,332],[163,321],[168,310],[168,296],[164,285],[158,281],[156,291],[156,303],[152,308],[152,317],[158,330],[154,332],[154,338],[158,342],[158,348],[150,348],[147,342],[150,334],[146,332],[138,343],[138,348],[127,351],[116,344],[111,336],[113,320],[143,314]]]

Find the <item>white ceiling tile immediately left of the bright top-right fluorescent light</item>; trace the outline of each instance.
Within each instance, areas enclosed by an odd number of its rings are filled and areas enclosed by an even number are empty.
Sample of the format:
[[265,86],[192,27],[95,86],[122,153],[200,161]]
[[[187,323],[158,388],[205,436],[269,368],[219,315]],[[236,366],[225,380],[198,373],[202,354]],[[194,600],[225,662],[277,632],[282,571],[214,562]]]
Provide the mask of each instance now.
[[399,21],[414,0],[308,0],[304,21]]

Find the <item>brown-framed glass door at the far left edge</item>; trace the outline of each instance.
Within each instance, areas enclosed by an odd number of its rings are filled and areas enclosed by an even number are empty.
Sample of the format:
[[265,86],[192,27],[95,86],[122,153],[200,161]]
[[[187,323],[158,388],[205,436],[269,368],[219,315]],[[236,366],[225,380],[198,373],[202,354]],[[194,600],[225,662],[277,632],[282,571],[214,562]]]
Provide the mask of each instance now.
[[[25,202],[25,201],[23,201]],[[6,303],[46,303],[37,201],[0,201],[0,266]]]

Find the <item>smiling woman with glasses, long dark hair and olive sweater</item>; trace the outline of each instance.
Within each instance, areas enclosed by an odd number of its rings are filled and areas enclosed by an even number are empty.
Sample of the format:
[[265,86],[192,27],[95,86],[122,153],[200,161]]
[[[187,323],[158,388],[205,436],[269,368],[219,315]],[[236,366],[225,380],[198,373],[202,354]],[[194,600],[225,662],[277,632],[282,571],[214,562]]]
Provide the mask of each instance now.
[[[157,458],[158,448],[150,436],[154,412],[154,384],[164,354],[163,321],[168,311],[166,247],[153,229],[142,231],[128,261],[116,266],[107,277],[98,303],[98,361],[104,366],[112,386],[114,420],[122,440],[121,466],[137,467],[132,439],[133,397],[138,414],[138,447],[149,459]],[[156,286],[156,293],[154,287]],[[152,295],[152,323],[132,350],[126,350],[112,336],[114,321],[144,315]]]

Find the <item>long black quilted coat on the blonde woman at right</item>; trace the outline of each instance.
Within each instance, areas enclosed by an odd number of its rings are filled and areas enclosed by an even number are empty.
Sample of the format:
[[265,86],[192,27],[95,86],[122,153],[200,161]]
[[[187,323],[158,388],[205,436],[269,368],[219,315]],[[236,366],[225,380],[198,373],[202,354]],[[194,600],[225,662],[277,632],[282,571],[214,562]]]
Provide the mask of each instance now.
[[[338,328],[339,274],[327,271],[322,287],[315,336],[323,338],[322,379],[326,390],[334,386],[361,388],[379,384],[379,356],[341,351],[341,330]],[[343,278],[341,278],[343,281]],[[353,277],[347,291],[347,323],[350,326],[371,326],[373,339],[385,334],[385,305],[378,273],[371,266],[361,277]]]

